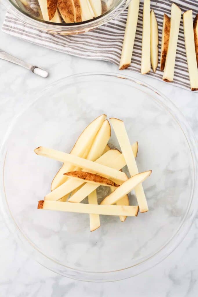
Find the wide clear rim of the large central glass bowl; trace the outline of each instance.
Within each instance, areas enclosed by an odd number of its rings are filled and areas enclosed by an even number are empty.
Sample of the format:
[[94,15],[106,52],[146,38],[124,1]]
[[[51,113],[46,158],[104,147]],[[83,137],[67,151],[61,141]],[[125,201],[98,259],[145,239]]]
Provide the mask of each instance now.
[[[192,158],[192,162],[193,162],[193,166],[194,166],[194,183],[193,183],[193,187],[192,187],[193,190],[191,191],[191,200],[189,200],[190,203],[189,203],[188,209],[183,217],[182,222],[180,223],[178,229],[176,230],[176,232],[168,240],[168,242],[166,244],[164,244],[164,246],[161,249],[159,249],[155,254],[151,255],[146,260],[143,260],[142,262],[137,263],[136,265],[133,265],[131,267],[126,267],[123,269],[119,269],[119,270],[115,270],[115,271],[104,271],[104,272],[102,272],[102,271],[100,271],[100,272],[82,271],[82,270],[68,267],[68,266],[61,264],[60,262],[46,256],[37,247],[35,247],[34,244],[22,233],[22,231],[20,230],[20,228],[17,225],[17,222],[15,222],[14,218],[12,217],[12,213],[9,210],[9,206],[6,201],[6,194],[4,192],[4,181],[3,181],[5,158],[0,160],[0,166],[1,166],[1,168],[3,168],[2,172],[0,172],[0,178],[1,178],[0,183],[2,185],[2,187],[0,189],[0,191],[1,191],[0,192],[0,198],[1,198],[0,208],[1,208],[3,217],[5,219],[8,229],[15,235],[15,238],[17,239],[17,241],[20,242],[20,244],[22,242],[22,244],[24,246],[26,246],[26,249],[28,249],[28,253],[30,252],[30,249],[31,249],[31,252],[34,253],[33,258],[37,262],[39,262],[42,266],[48,268],[51,271],[56,272],[57,274],[60,274],[64,277],[68,277],[71,279],[83,280],[83,281],[88,281],[88,282],[111,282],[111,281],[117,281],[117,280],[121,280],[121,279],[127,279],[129,277],[133,277],[133,276],[138,275],[144,271],[147,271],[151,267],[156,266],[158,263],[160,263],[162,260],[164,260],[167,256],[169,256],[178,247],[178,245],[182,242],[182,240],[185,238],[187,232],[189,231],[189,229],[192,225],[193,219],[197,213],[197,208],[198,208],[198,202],[196,201],[196,196],[198,194],[198,184],[196,183],[197,172],[198,172],[198,146],[197,146],[197,140],[195,138],[194,132],[192,131],[189,123],[186,121],[186,119],[183,116],[183,114],[181,113],[181,111],[176,107],[176,105],[170,99],[168,99],[165,95],[163,95],[161,92],[159,92],[158,90],[156,90],[149,84],[144,83],[143,81],[133,78],[131,76],[121,75],[121,74],[113,73],[113,72],[85,72],[85,73],[79,73],[79,74],[66,76],[64,78],[56,80],[55,82],[50,83],[49,85],[45,86],[45,88],[42,89],[41,92],[37,91],[38,96],[35,97],[33,100],[30,100],[25,107],[21,108],[20,113],[18,113],[12,120],[6,134],[4,135],[4,139],[1,143],[0,155],[6,157],[6,151],[5,151],[6,143],[7,143],[9,134],[12,131],[14,124],[17,122],[17,119],[26,110],[28,110],[28,108],[30,108],[31,105],[33,105],[37,100],[39,100],[39,98],[42,96],[42,94],[45,91],[53,88],[55,85],[61,83],[64,80],[67,80],[67,83],[68,83],[68,80],[71,80],[71,79],[73,80],[76,78],[88,77],[88,76],[94,76],[94,77],[110,76],[110,77],[114,77],[114,78],[127,79],[127,80],[131,81],[132,83],[137,83],[138,85],[142,85],[143,87],[148,88],[150,91],[152,91],[160,96],[161,100],[159,100],[159,102],[164,105],[164,107],[171,113],[171,115],[174,117],[174,119],[177,121],[178,125],[180,126],[180,128],[186,138],[187,144],[189,146],[189,150],[191,152],[191,158]],[[176,117],[175,117],[175,113],[176,113]],[[189,219],[186,220],[186,217],[189,217]],[[181,228],[183,228],[183,230],[182,230],[182,232],[179,232],[181,230]],[[166,250],[165,250],[165,248],[166,248]],[[164,253],[162,253],[162,252],[164,252]],[[47,261],[47,264],[46,264],[46,261]],[[53,262],[53,264],[55,264],[57,266],[56,268],[54,268],[54,266],[51,265],[52,262]],[[147,267],[144,267],[145,263],[148,263]],[[134,267],[136,268],[137,271],[135,273],[132,273],[132,270],[134,270]],[[65,270],[62,270],[62,268],[64,268],[64,269],[66,268],[67,275],[65,273]],[[77,275],[75,275],[74,272],[77,272]],[[120,275],[120,273],[121,273],[121,275]]]

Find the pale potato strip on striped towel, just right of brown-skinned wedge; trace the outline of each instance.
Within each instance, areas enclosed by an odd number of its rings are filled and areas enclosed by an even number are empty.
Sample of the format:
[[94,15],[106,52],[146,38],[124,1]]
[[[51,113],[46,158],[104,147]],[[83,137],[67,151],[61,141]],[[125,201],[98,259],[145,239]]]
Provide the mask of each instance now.
[[173,3],[171,6],[170,38],[163,75],[163,80],[167,82],[173,81],[174,78],[180,20],[181,10],[175,3]]

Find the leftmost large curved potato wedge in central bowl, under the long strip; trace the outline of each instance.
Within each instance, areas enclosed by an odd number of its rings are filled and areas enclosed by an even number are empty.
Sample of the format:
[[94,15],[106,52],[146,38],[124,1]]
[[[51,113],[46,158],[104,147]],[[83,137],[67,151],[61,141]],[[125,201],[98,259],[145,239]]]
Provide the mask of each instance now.
[[[80,134],[70,154],[76,155],[78,157],[86,158],[88,155],[89,149],[94,141],[94,138],[96,137],[96,134],[98,133],[100,127],[102,126],[102,123],[106,118],[107,116],[105,114],[102,114],[94,121],[92,121]],[[87,153],[87,155],[85,155],[85,153]],[[72,171],[73,169],[74,169],[74,166],[72,164],[67,162],[64,163],[61,169],[56,173],[56,176],[52,181],[51,191],[53,191],[61,184],[63,184],[67,180],[67,177],[64,176],[63,174],[65,172]]]

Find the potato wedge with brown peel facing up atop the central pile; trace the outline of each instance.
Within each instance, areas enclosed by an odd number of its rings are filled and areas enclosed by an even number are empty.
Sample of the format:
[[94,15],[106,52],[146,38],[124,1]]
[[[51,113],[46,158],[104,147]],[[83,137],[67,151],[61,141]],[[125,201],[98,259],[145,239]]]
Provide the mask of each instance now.
[[119,187],[118,184],[115,184],[114,181],[111,181],[108,178],[105,178],[103,176],[94,174],[94,173],[90,173],[90,172],[85,172],[85,171],[71,171],[71,172],[66,172],[64,173],[64,175],[70,176],[70,177],[74,177],[74,178],[78,178],[81,179],[85,182],[91,182],[91,183],[96,183],[96,184],[100,184],[101,186],[113,186],[113,187]]

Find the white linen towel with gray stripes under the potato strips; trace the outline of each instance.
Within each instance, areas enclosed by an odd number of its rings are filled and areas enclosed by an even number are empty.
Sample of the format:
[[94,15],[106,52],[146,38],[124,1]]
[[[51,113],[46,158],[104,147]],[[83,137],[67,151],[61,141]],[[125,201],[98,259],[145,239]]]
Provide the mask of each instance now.
[[[175,0],[174,3],[181,8],[182,13],[189,9],[193,10],[193,17],[195,17],[198,13],[197,0]],[[151,9],[154,9],[158,22],[159,56],[161,48],[163,15],[164,13],[167,13],[170,16],[171,4],[172,1],[170,0],[151,0]],[[132,70],[137,73],[140,73],[141,69],[142,11],[143,0],[140,0],[140,11],[138,16],[132,63],[128,67],[128,70]],[[13,17],[9,12],[7,12],[2,31],[12,36],[19,37],[23,40],[44,46],[46,48],[57,50],[59,52],[68,53],[73,56],[87,59],[109,61],[116,65],[119,65],[126,18],[127,9],[122,12],[121,15],[119,15],[116,19],[103,26],[100,26],[97,29],[94,29],[91,32],[74,36],[62,36],[34,29],[27,24],[23,24],[15,17]],[[156,73],[153,73],[153,71],[151,70],[151,72],[146,75],[161,80],[163,73],[159,70],[158,64]],[[175,76],[174,81],[169,84],[173,84],[175,86],[190,90],[182,19],[180,23],[177,55],[175,62]]]

